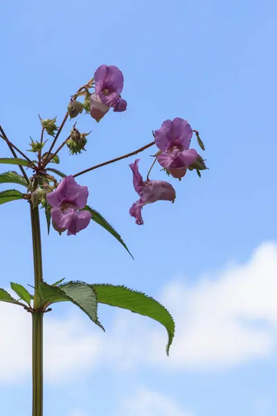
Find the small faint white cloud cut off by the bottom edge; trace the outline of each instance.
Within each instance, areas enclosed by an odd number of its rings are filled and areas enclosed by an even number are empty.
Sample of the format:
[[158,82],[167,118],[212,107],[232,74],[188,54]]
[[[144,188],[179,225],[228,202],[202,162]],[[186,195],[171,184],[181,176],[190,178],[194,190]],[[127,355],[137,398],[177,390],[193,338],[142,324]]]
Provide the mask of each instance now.
[[191,416],[173,399],[141,388],[131,397],[123,397],[119,410],[111,416]]

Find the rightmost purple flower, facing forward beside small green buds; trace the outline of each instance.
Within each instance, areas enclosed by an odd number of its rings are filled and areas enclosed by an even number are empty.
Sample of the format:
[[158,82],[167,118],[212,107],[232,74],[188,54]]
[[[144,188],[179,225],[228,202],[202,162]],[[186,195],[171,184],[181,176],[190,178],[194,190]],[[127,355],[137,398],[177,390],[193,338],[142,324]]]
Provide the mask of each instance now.
[[179,117],[163,121],[161,128],[155,131],[155,142],[162,152],[158,162],[174,177],[186,175],[187,167],[197,159],[197,151],[189,148],[192,137],[188,121]]

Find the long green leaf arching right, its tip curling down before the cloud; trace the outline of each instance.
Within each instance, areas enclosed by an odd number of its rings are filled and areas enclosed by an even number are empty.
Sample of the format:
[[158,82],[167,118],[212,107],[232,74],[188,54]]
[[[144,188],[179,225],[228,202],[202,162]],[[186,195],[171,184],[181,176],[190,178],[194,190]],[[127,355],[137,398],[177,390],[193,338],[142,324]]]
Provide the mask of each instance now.
[[148,316],[160,322],[168,331],[168,345],[166,354],[169,352],[170,345],[175,333],[175,322],[167,311],[157,300],[141,292],[133,291],[125,286],[114,286],[111,284],[92,284],[98,302],[118,308],[129,309],[134,313]]

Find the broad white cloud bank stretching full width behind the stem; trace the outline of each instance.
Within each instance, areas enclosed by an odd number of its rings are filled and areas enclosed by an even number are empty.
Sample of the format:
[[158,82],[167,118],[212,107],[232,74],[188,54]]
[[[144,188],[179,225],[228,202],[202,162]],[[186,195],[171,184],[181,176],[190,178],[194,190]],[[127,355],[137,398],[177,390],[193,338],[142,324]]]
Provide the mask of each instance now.
[[[273,243],[261,245],[242,266],[195,283],[186,279],[169,283],[161,299],[177,323],[170,358],[165,354],[166,331],[148,318],[117,311],[104,334],[81,313],[65,318],[48,313],[46,381],[70,381],[103,365],[118,366],[120,371],[143,362],[162,370],[205,370],[270,358],[276,352],[276,293],[277,245]],[[0,383],[17,383],[30,376],[31,316],[4,302],[0,315]]]

